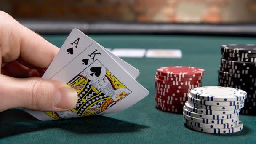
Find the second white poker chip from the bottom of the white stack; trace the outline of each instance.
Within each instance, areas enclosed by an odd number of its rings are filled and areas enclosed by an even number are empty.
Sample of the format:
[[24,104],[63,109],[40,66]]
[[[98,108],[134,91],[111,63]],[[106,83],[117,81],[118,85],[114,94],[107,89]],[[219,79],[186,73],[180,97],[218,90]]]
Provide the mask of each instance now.
[[186,124],[188,125],[194,125],[199,128],[233,128],[238,125],[239,121],[235,121],[232,123],[224,123],[224,124],[207,124],[207,123],[198,123],[191,120],[187,120],[183,118]]

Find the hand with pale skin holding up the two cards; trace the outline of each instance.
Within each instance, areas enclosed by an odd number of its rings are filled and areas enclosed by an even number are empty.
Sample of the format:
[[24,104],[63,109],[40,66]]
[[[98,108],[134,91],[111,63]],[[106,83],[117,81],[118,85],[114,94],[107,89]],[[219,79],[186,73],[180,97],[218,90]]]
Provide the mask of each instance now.
[[0,11],[0,112],[11,108],[67,111],[77,103],[66,83],[39,78],[59,48]]

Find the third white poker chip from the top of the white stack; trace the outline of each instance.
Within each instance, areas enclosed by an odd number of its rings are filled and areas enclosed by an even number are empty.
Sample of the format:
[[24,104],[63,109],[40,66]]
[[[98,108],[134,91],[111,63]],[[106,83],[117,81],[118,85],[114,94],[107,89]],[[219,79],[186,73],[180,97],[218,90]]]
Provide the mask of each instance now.
[[238,104],[238,105],[233,105],[233,106],[208,106],[208,105],[202,105],[202,104],[197,104],[193,103],[192,101],[188,101],[189,105],[195,108],[199,109],[207,109],[207,110],[233,110],[233,109],[242,109],[244,107],[244,103]]

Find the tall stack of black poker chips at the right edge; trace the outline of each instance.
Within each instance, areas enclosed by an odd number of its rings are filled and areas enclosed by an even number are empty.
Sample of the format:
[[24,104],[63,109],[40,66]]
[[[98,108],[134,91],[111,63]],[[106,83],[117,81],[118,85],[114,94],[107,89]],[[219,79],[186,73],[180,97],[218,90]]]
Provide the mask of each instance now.
[[221,45],[219,86],[247,92],[241,114],[256,115],[256,45]]

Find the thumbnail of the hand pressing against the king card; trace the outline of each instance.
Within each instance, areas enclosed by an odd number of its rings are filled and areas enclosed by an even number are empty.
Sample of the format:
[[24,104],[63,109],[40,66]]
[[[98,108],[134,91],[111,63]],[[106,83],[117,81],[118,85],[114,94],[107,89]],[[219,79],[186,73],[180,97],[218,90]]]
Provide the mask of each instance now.
[[77,92],[64,86],[58,89],[54,98],[54,106],[60,109],[72,109],[77,103]]

